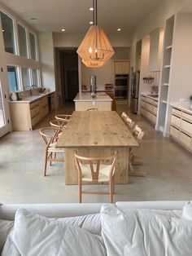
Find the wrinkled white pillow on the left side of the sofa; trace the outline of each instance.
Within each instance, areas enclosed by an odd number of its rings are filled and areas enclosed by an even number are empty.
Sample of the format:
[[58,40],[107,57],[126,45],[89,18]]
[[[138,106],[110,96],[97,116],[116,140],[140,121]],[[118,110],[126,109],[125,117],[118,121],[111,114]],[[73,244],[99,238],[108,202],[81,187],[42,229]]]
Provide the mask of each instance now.
[[13,242],[21,255],[106,255],[101,236],[20,209],[15,214]]

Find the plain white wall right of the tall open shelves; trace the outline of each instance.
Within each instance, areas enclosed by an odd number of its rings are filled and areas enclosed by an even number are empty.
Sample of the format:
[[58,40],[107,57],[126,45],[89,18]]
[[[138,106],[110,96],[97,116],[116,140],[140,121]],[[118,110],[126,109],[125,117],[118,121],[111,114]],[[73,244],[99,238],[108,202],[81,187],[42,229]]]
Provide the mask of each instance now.
[[192,95],[192,14],[178,13],[172,43],[170,101],[190,101]]

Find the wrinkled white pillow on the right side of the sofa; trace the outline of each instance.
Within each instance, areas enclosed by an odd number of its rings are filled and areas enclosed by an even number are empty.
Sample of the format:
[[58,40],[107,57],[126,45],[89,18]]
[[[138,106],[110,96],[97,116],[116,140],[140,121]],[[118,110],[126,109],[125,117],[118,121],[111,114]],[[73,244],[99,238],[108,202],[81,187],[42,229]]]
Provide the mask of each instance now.
[[190,256],[192,223],[146,210],[101,209],[102,236],[107,254],[131,256]]

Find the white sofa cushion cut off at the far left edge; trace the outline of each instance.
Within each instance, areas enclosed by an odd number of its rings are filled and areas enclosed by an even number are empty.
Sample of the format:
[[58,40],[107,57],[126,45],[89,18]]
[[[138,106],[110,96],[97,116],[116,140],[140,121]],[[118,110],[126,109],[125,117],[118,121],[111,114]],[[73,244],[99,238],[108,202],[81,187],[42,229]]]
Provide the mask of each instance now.
[[7,236],[13,228],[13,225],[13,221],[0,219],[0,255],[2,253],[2,248],[7,240]]

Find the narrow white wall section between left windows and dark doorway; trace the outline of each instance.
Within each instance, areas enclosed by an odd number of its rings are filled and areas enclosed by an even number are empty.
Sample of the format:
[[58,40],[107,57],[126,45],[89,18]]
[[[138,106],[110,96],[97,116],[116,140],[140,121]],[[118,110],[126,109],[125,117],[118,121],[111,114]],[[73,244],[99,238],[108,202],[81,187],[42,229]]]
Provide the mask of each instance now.
[[39,33],[41,85],[55,90],[54,44],[52,33]]

